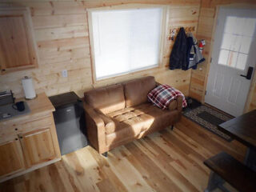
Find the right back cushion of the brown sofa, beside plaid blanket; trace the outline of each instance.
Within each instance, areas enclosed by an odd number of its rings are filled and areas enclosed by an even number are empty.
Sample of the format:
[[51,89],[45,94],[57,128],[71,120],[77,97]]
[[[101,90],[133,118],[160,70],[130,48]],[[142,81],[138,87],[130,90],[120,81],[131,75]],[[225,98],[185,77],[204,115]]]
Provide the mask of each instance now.
[[137,106],[147,101],[147,94],[156,86],[154,77],[148,76],[122,83],[126,97],[126,107]]

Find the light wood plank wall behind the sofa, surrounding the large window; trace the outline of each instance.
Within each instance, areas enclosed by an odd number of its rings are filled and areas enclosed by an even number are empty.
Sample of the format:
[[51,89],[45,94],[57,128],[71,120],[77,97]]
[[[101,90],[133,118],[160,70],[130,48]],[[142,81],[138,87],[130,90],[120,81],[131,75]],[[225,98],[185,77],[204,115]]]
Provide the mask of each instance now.
[[[71,90],[80,96],[84,90],[130,78],[154,75],[158,82],[176,87],[186,95],[190,90],[191,70],[168,70],[173,42],[166,35],[164,66],[121,77],[92,82],[90,44],[86,8],[113,6],[126,3],[166,4],[170,6],[168,28],[194,26],[196,33],[200,0],[86,0],[86,1],[18,1],[5,0],[0,6],[29,6],[38,46],[39,67],[0,75],[0,90],[11,89],[16,97],[22,97],[22,77],[34,78],[37,92],[48,96]],[[68,78],[62,78],[62,70],[68,70]]]

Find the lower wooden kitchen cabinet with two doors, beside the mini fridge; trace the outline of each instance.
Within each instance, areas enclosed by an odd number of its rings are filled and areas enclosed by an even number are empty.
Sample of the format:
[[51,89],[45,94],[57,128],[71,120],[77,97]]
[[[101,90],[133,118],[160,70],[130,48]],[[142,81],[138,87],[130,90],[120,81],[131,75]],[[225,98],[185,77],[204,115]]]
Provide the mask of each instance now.
[[61,158],[54,106],[46,94],[27,102],[30,114],[0,122],[0,182]]

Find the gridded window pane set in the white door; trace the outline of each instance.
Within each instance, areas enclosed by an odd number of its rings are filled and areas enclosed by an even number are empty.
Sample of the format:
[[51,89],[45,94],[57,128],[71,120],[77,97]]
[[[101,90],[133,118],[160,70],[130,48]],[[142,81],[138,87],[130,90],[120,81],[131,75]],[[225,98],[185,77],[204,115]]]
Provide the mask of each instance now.
[[255,18],[226,18],[218,64],[245,70],[255,25]]

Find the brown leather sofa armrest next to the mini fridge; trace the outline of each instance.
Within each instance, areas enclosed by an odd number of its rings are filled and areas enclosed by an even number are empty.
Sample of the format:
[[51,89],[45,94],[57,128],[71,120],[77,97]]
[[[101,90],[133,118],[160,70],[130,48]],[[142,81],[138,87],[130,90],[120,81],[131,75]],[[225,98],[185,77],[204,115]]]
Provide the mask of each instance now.
[[86,130],[90,144],[99,154],[106,152],[105,124],[100,115],[88,103],[83,102],[86,114]]

